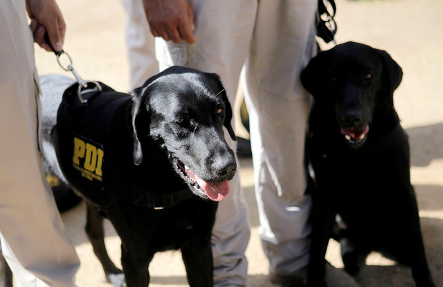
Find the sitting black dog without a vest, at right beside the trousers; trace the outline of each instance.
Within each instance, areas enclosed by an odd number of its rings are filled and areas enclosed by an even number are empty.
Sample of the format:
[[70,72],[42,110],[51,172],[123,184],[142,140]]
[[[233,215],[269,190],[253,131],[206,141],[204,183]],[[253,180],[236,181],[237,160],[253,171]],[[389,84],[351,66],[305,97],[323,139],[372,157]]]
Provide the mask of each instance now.
[[314,97],[307,134],[315,174],[309,286],[326,286],[325,251],[336,214],[351,275],[377,250],[410,266],[417,286],[435,286],[410,184],[408,136],[393,104],[401,77],[388,53],[352,42],[320,52],[302,71]]

